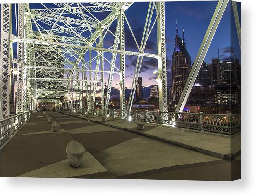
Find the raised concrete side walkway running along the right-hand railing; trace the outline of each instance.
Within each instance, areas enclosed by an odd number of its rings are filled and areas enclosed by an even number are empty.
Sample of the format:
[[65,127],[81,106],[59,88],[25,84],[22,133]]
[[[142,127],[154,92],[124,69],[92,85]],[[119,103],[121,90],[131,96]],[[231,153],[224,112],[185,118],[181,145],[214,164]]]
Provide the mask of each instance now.
[[74,113],[69,115],[166,141],[220,159],[232,160],[241,153],[241,133],[237,133],[230,137],[204,131],[199,132],[184,128],[159,126],[153,123],[145,123],[144,130],[139,130],[134,121],[107,118],[107,121],[103,122],[100,116],[90,115],[89,118],[85,118],[82,114]]

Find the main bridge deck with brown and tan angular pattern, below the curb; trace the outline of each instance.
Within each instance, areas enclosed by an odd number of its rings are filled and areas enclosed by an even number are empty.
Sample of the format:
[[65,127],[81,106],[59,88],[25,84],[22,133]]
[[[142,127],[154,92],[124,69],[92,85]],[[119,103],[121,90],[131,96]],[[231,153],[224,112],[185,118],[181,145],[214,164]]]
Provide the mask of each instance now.
[[[230,180],[239,168],[227,160],[155,138],[58,112],[52,132],[42,112],[34,114],[1,150],[2,177]],[[80,116],[84,118],[83,116]],[[96,118],[91,116],[91,118]],[[108,119],[117,124],[119,119]],[[146,131],[156,126],[147,125]],[[86,148],[81,167],[69,166],[65,147],[76,140]],[[234,162],[233,161],[233,162]],[[236,167],[237,166],[237,167]]]

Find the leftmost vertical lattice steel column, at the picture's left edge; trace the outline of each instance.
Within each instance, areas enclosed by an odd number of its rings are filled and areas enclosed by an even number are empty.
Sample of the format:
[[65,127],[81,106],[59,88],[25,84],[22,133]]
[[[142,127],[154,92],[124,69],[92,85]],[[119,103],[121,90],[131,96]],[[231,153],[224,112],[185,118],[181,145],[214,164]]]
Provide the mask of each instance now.
[[12,4],[1,4],[1,119],[10,115]]

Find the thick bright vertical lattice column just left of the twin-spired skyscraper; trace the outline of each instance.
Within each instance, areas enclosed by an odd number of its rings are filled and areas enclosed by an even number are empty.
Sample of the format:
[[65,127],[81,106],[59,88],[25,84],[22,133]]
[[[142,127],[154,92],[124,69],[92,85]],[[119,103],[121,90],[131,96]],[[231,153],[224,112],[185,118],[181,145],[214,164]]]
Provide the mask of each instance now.
[[167,78],[166,78],[166,47],[165,47],[165,2],[156,2],[157,16],[157,51],[158,58],[158,89],[159,110],[167,112]]

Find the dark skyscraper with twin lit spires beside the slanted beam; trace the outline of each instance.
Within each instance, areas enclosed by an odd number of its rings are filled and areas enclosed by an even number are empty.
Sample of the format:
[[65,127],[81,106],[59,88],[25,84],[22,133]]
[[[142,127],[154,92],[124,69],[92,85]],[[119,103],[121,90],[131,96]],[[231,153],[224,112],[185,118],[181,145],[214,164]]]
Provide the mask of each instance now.
[[184,29],[182,38],[180,38],[178,22],[176,21],[175,47],[172,54],[172,87],[170,90],[172,102],[177,103],[179,101],[190,70],[191,60],[186,49]]

